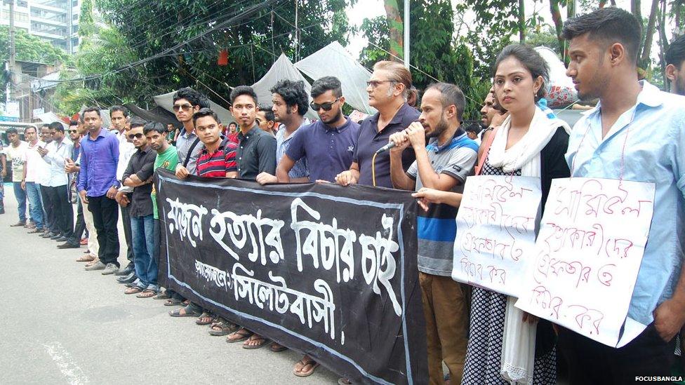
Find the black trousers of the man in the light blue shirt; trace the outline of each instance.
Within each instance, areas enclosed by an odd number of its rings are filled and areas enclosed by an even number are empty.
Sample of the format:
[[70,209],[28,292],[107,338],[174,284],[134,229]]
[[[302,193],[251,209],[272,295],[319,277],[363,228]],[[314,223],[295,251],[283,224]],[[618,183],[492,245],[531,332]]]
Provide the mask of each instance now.
[[675,338],[665,342],[652,323],[616,349],[560,327],[558,346],[568,363],[571,385],[623,385],[636,383],[636,377],[669,376]]

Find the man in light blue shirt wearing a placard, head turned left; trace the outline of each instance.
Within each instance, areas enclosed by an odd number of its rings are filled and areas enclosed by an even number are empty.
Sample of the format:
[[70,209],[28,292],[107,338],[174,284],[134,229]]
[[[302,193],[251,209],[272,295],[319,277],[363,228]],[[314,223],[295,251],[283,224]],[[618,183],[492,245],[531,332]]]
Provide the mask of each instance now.
[[674,337],[685,323],[685,97],[638,81],[641,27],[619,8],[568,20],[573,78],[581,99],[597,108],[576,123],[566,160],[573,177],[656,184],[654,214],[628,317],[646,327],[620,349],[564,328],[559,349],[571,384],[627,384],[667,376]]

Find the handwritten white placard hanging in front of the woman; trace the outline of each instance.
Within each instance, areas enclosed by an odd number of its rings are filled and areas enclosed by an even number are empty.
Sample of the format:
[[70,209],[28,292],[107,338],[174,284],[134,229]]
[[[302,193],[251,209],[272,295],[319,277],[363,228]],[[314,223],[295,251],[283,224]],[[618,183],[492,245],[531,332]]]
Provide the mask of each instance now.
[[518,296],[535,255],[540,178],[468,177],[457,214],[452,278]]

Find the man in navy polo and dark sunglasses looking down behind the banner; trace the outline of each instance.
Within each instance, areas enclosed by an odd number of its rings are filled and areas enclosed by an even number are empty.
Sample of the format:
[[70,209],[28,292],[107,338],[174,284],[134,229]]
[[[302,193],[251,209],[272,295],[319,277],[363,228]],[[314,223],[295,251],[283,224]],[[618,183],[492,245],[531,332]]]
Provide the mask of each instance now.
[[281,183],[290,182],[288,172],[301,158],[307,158],[310,181],[335,182],[335,175],[350,169],[357,148],[359,124],[342,114],[340,80],[324,76],[312,84],[310,107],[319,114],[319,121],[298,129],[290,147],[280,159],[276,175]]

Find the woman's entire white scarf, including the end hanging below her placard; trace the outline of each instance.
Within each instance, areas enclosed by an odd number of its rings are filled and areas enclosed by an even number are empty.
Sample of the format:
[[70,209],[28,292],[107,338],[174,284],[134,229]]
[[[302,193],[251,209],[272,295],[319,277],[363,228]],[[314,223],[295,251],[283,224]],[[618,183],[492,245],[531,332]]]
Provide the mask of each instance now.
[[[536,107],[528,133],[507,149],[511,123],[509,116],[498,129],[490,147],[488,163],[501,167],[505,173],[521,169],[524,177],[540,177],[540,151],[550,142],[557,128],[563,127],[566,133],[570,133],[571,127],[561,119],[550,119]],[[507,297],[500,374],[510,384],[532,384],[538,325],[523,321],[524,312],[514,306],[516,301],[516,297]]]

